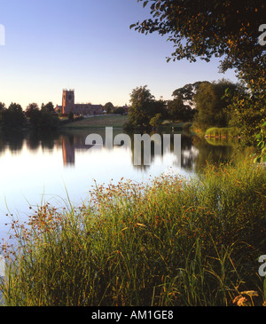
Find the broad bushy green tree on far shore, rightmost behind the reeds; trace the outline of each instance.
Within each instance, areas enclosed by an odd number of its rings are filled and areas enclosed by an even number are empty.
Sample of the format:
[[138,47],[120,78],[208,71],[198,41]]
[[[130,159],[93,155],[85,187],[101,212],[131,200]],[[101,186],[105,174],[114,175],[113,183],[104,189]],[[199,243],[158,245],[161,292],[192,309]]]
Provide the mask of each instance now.
[[235,93],[238,85],[226,80],[217,83],[201,83],[194,96],[197,114],[194,118],[196,128],[205,131],[210,127],[226,127],[229,123],[227,107],[229,98],[224,97],[225,92]]

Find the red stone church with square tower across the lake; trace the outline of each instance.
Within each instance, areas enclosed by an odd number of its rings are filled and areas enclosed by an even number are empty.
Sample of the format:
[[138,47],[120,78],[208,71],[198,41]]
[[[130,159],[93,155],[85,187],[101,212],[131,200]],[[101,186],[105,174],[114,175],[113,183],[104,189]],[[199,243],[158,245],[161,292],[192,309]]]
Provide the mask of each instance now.
[[62,106],[56,107],[63,115],[73,112],[74,115],[103,115],[104,107],[102,105],[75,104],[74,90],[63,90]]

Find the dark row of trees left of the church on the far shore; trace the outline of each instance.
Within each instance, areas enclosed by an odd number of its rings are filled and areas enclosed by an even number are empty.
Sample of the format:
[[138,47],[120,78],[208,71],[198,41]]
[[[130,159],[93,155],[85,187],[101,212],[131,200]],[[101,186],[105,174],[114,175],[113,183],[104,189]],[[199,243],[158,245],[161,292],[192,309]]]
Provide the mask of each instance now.
[[0,102],[0,126],[4,129],[30,127],[34,130],[55,130],[59,126],[59,116],[55,114],[51,102],[42,104],[41,108],[36,103],[31,103],[25,112],[17,103],[12,103],[7,108]]

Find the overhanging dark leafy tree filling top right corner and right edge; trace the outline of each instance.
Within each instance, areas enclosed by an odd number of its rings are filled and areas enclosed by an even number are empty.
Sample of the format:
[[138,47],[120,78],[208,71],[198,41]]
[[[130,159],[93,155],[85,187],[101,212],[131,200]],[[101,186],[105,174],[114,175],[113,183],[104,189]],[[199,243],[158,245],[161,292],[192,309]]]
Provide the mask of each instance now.
[[[234,68],[241,83],[243,96],[231,99],[235,102],[235,124],[245,123],[249,129],[239,128],[251,138],[257,127],[265,122],[266,99],[266,46],[259,42],[260,30],[265,26],[266,3],[262,0],[153,0],[151,17],[137,22],[130,28],[140,33],[158,32],[168,36],[174,51],[168,57],[209,61],[220,57],[220,71]],[[240,104],[240,105],[239,105]],[[241,111],[247,112],[245,118]],[[248,122],[256,115],[256,122]],[[239,119],[238,119],[239,118]],[[260,121],[261,120],[261,121]],[[258,122],[258,124],[257,124]],[[249,134],[249,135],[248,135]]]

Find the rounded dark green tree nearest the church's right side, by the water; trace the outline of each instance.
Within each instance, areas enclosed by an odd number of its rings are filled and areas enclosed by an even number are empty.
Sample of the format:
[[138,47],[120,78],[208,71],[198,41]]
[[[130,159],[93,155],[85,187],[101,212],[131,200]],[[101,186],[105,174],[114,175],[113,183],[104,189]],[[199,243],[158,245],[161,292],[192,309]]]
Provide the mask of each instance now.
[[153,117],[154,96],[147,89],[147,85],[137,87],[131,92],[130,103],[129,123],[134,127],[149,126],[149,122]]

